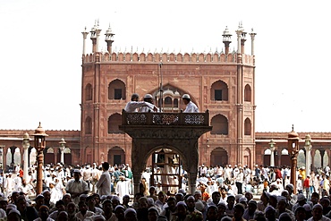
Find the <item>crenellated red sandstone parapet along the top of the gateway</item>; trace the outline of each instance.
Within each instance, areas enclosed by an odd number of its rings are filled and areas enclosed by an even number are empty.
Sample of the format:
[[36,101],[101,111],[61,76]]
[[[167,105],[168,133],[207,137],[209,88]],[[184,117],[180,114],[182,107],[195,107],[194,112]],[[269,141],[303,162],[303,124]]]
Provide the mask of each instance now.
[[[224,53],[94,53],[82,55],[82,64],[94,62],[124,62],[124,63],[202,63],[202,64],[236,64],[237,54]],[[242,55],[242,64],[254,65],[253,55]]]

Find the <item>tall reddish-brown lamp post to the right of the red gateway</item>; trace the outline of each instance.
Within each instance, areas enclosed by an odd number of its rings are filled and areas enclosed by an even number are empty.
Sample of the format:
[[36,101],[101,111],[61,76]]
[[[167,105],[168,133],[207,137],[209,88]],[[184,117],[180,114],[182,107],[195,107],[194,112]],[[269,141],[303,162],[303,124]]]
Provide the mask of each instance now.
[[296,194],[296,166],[298,163],[299,140],[299,135],[297,132],[294,132],[292,125],[292,132],[288,133],[287,149],[291,157],[291,183],[294,186],[294,194]]

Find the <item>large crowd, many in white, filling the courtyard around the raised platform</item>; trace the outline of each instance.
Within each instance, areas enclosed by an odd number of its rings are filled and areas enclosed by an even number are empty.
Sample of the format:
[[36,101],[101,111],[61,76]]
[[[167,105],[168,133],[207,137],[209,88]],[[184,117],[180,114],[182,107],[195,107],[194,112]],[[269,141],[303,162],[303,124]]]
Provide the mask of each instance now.
[[[329,220],[329,168],[309,175],[297,171],[294,188],[287,167],[199,166],[196,191],[183,185],[162,191],[142,173],[140,191],[132,190],[129,165],[47,165],[43,191],[35,194],[36,169],[28,180],[20,166],[2,174],[0,219],[3,220]],[[185,179],[187,174],[182,174]],[[157,177],[157,176],[156,176]],[[21,182],[21,183],[20,183]],[[29,186],[29,188],[27,187]],[[300,188],[302,186],[302,188]],[[294,190],[296,189],[296,194]],[[258,200],[259,199],[259,200]]]

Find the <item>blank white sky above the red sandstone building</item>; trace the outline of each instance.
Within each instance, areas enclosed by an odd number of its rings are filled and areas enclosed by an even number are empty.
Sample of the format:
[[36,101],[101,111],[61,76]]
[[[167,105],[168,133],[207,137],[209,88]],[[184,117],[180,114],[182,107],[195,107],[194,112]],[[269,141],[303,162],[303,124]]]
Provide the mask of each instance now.
[[[1,0],[0,129],[80,130],[81,31],[115,51],[212,52],[257,33],[256,132],[331,132],[328,1]],[[87,52],[91,42],[87,39]],[[246,42],[250,54],[250,36]]]

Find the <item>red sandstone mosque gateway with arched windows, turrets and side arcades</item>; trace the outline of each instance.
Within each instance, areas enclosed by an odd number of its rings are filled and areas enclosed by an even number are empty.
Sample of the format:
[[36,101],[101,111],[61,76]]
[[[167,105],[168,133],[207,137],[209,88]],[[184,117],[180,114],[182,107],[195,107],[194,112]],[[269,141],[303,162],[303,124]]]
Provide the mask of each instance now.
[[[151,94],[163,112],[181,112],[185,108],[183,94],[190,95],[200,112],[208,110],[213,129],[199,138],[199,165],[240,164],[252,168],[269,165],[270,156],[275,157],[275,166],[289,164],[287,132],[255,132],[253,31],[247,33],[240,25],[232,35],[226,28],[220,42],[225,50],[209,53],[115,52],[115,34],[110,28],[105,32],[106,52],[101,52],[97,24],[90,31],[84,30],[82,36],[81,131],[47,131],[45,163],[59,160],[59,141],[64,138],[66,164],[131,164],[132,138],[119,130],[119,125],[124,106],[132,93],[138,93],[140,98]],[[92,51],[86,52],[89,42]],[[250,48],[245,47],[247,42]],[[236,48],[233,51],[231,44]],[[33,131],[0,132],[3,165],[23,165],[22,137]],[[299,132],[303,154],[306,134]],[[331,133],[310,136],[312,159],[319,155],[321,166],[326,165],[331,156]],[[270,140],[276,142],[272,155]],[[29,154],[33,158],[32,145]]]

